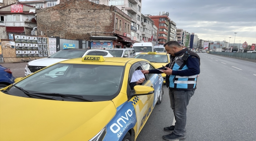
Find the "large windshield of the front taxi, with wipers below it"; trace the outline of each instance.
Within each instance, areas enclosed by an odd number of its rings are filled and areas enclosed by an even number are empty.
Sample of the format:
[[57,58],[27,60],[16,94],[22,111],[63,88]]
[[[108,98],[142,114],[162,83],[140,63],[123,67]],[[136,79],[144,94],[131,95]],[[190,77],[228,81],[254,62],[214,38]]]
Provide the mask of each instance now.
[[68,94],[106,101],[121,89],[124,66],[58,63],[15,84],[31,93]]

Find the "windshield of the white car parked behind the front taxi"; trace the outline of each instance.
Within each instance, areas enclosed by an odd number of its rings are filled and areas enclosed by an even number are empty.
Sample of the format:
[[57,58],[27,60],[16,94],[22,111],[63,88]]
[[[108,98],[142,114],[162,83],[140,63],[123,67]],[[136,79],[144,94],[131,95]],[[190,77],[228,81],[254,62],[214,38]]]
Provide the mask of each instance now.
[[80,58],[87,50],[61,50],[48,58]]

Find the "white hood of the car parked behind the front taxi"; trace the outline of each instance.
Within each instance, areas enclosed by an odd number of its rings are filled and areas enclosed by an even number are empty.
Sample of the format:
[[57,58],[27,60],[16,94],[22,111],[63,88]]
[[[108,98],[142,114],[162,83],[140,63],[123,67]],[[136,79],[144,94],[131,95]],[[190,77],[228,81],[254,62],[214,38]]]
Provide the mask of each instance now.
[[52,64],[58,63],[60,61],[64,61],[64,60],[68,60],[68,59],[66,59],[66,58],[42,58],[42,59],[29,61],[28,65],[47,67],[49,65],[52,65]]

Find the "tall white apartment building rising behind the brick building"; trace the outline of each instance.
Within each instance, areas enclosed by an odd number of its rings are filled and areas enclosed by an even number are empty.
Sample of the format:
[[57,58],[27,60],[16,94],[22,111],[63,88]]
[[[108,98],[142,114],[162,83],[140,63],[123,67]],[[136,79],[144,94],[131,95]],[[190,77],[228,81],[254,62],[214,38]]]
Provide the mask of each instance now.
[[[134,41],[141,42],[142,34],[141,34],[141,7],[142,0],[89,0],[91,2],[95,2],[96,4],[103,5],[115,5],[118,9],[124,12],[132,18],[132,22],[127,26],[130,27],[130,35]],[[140,38],[141,36],[141,38]]]

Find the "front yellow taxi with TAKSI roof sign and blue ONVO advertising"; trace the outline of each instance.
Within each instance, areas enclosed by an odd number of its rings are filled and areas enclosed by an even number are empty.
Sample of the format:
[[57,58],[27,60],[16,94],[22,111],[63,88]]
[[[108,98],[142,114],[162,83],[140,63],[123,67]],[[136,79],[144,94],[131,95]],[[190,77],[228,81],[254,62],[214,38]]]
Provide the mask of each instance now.
[[149,69],[143,59],[85,56],[17,78],[0,90],[0,140],[135,141],[162,101],[160,74],[131,87]]

